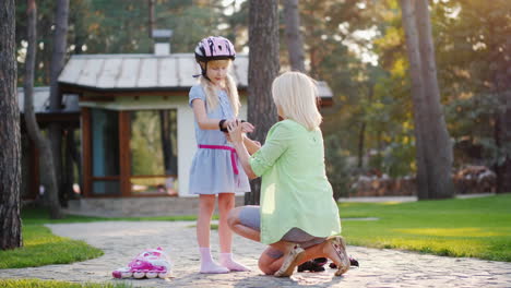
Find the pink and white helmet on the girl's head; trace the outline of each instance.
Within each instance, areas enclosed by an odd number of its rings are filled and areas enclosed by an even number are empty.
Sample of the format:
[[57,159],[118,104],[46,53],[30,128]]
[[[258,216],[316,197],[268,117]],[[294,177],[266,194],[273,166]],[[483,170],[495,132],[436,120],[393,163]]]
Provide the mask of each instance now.
[[195,60],[207,62],[211,60],[222,60],[236,58],[233,44],[222,36],[210,36],[202,39],[195,47]]

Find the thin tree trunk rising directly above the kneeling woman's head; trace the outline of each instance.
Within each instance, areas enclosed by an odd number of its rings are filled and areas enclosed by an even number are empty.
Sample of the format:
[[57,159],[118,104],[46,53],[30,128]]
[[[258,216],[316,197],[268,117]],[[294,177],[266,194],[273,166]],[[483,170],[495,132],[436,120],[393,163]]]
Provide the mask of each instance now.
[[305,71],[304,41],[300,35],[300,13],[298,0],[284,1],[284,21],[286,23],[287,51],[289,64],[294,71]]

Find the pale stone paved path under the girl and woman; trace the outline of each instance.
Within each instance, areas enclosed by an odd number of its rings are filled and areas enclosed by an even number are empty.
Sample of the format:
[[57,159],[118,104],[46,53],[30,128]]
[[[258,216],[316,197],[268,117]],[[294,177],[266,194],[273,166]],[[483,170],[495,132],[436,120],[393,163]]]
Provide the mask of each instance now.
[[[195,229],[190,221],[104,221],[48,225],[54,233],[84,240],[105,251],[99,259],[69,265],[0,269],[0,278],[39,278],[67,281],[128,281],[133,287],[511,287],[511,263],[452,259],[395,250],[348,247],[360,268],[334,277],[323,273],[295,273],[290,278],[264,276],[257,259],[264,245],[235,236],[234,253],[251,272],[199,274]],[[145,248],[163,247],[174,261],[174,278],[119,280],[111,271],[126,265]],[[217,233],[212,249],[217,255]]]

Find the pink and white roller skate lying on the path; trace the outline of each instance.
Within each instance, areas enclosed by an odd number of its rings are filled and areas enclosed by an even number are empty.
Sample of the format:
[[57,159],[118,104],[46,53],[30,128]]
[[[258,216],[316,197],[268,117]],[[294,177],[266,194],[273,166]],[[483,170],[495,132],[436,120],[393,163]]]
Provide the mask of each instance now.
[[167,278],[170,276],[170,266],[167,254],[158,247],[140,253],[128,264],[128,267],[118,268],[111,275],[115,278]]

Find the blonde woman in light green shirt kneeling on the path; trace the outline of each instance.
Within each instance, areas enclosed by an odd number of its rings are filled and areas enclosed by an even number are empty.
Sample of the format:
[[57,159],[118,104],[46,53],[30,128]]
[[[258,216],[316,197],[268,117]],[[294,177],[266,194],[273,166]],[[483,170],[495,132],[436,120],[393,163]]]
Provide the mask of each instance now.
[[[314,82],[299,72],[286,72],[272,85],[273,100],[283,121],[274,124],[264,145],[252,156],[238,121],[228,124],[230,140],[250,179],[261,177],[261,206],[230,211],[228,225],[236,233],[269,244],[259,259],[268,275],[290,276],[310,259],[329,257],[349,268],[338,209],[324,167]],[[250,147],[249,147],[250,148]]]

